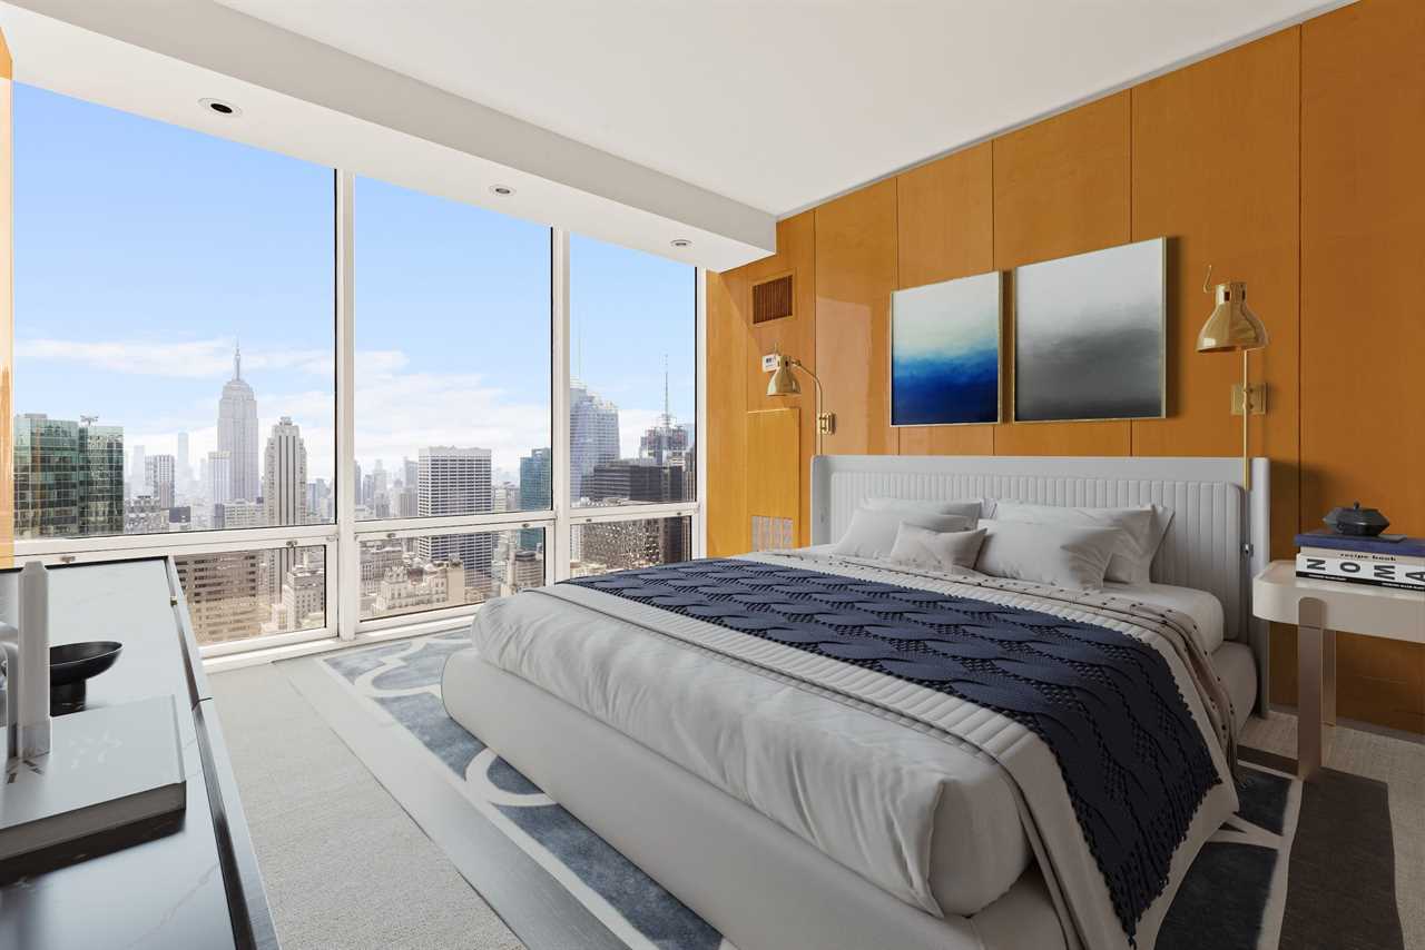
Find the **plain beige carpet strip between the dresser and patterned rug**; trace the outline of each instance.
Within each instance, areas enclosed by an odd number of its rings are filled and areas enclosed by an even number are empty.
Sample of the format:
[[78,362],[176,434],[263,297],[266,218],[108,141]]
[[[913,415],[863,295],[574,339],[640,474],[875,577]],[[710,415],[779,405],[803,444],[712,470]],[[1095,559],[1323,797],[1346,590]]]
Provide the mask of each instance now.
[[284,950],[523,946],[279,667],[209,679]]

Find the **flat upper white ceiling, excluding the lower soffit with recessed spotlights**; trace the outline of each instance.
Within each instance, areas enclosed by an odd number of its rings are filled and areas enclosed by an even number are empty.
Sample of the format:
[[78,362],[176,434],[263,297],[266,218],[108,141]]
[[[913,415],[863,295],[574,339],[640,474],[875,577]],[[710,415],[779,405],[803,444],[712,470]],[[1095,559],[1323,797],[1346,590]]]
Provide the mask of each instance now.
[[784,215],[1322,0],[219,0]]

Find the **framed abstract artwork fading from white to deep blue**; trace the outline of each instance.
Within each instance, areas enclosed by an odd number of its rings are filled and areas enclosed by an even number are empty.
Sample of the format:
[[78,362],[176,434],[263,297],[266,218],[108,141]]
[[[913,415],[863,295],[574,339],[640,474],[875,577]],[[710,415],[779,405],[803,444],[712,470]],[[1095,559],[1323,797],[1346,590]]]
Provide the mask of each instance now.
[[891,424],[999,422],[1002,275],[891,295]]

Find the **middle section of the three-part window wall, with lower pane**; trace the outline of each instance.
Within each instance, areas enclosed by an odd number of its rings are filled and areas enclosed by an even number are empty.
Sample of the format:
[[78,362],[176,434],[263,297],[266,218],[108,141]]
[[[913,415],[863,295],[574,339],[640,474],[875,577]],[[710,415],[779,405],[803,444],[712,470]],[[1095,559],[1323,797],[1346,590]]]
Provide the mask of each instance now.
[[517,524],[553,511],[553,231],[353,185],[359,615],[543,584],[549,521]]

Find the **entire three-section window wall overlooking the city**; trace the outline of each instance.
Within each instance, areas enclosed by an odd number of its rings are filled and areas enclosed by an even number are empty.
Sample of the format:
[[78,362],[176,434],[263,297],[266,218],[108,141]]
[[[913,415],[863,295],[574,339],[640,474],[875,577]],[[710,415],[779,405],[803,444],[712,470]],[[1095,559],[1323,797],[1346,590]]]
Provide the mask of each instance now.
[[694,555],[697,272],[16,85],[17,554],[211,654]]

